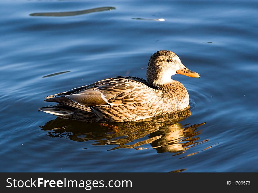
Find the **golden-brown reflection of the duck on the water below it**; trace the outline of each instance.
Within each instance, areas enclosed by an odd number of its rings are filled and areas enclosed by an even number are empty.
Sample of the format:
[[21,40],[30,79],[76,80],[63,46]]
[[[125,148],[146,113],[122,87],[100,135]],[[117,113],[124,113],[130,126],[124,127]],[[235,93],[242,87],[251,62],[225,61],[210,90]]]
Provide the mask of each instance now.
[[[40,126],[50,137],[66,138],[77,142],[93,140],[92,145],[116,145],[110,150],[120,148],[146,149],[140,147],[150,144],[158,153],[184,153],[190,147],[206,142],[197,135],[204,123],[182,125],[180,121],[191,115],[190,110],[162,115],[142,121],[122,123],[87,123],[56,118]],[[146,147],[146,146],[145,146]]]

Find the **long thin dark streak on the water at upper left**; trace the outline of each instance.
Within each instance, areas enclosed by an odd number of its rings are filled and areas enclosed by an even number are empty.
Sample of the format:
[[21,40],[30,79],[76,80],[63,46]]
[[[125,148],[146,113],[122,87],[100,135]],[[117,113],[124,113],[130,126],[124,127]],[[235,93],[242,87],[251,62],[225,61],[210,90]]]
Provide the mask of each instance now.
[[65,12],[44,12],[44,13],[32,13],[30,16],[53,16],[53,17],[63,17],[63,16],[75,16],[82,14],[89,14],[98,11],[110,11],[116,9],[115,7],[98,7],[94,9],[85,9],[80,11],[65,11]]

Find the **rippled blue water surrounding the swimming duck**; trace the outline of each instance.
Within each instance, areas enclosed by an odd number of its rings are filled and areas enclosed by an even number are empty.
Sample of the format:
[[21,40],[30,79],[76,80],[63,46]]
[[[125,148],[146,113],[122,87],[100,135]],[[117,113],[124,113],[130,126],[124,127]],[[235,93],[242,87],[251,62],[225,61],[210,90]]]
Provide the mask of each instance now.
[[[0,171],[258,172],[257,8],[254,0],[2,0]],[[173,76],[190,111],[106,125],[38,112],[50,94],[145,78],[158,50],[201,75]]]

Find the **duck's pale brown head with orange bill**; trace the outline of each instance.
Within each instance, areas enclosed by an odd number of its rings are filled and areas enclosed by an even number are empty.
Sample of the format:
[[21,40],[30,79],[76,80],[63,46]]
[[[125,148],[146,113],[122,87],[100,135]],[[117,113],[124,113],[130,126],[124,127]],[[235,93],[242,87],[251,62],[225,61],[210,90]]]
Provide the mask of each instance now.
[[171,76],[183,74],[199,78],[200,75],[190,71],[182,64],[179,57],[172,51],[160,50],[152,54],[147,68],[147,81],[151,85],[163,85],[172,82]]

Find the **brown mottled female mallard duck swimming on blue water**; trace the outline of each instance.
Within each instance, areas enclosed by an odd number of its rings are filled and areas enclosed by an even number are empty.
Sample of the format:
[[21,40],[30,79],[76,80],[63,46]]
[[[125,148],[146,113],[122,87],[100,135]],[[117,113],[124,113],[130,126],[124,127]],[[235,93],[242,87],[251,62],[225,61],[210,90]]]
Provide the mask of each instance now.
[[189,105],[184,85],[171,79],[176,73],[200,77],[187,69],[174,52],[160,50],[150,57],[147,81],[131,76],[100,80],[47,96],[45,102],[59,104],[40,110],[62,118],[110,122],[135,121],[172,113]]

